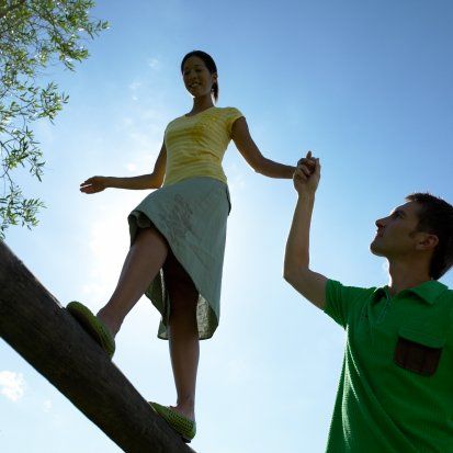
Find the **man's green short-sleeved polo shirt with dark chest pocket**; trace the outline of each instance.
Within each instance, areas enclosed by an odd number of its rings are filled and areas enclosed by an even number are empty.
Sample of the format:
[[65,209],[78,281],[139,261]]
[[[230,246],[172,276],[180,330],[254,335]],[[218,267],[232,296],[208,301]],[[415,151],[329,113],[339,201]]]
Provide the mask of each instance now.
[[453,291],[329,280],[325,312],[347,331],[327,452],[452,453]]

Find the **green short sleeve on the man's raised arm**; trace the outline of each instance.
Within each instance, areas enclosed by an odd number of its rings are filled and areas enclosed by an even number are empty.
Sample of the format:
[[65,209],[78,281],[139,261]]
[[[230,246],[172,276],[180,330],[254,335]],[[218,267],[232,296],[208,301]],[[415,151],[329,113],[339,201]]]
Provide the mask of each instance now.
[[344,286],[340,282],[328,280],[324,312],[346,329],[353,314],[362,309],[373,292],[374,288]]

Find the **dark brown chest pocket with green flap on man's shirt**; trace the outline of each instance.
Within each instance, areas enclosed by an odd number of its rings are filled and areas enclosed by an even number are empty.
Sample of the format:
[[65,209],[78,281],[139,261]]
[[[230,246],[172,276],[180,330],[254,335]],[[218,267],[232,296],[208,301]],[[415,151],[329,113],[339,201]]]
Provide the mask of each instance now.
[[438,370],[444,344],[443,337],[401,327],[398,331],[394,361],[405,370],[432,376]]

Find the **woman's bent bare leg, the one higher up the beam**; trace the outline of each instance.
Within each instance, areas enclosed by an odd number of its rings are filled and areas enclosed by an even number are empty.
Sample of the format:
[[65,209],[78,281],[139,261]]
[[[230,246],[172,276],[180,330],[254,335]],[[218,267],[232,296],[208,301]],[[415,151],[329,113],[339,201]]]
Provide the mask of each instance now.
[[116,288],[106,305],[98,313],[98,317],[113,336],[117,333],[126,315],[162,268],[167,253],[167,241],[158,230],[139,229],[124,261]]

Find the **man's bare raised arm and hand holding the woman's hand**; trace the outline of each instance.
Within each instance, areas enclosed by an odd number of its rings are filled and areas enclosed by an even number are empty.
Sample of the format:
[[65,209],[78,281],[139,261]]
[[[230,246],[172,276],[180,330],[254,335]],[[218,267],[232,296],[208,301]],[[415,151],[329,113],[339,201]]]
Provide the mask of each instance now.
[[286,242],[283,276],[305,298],[324,309],[327,278],[309,269],[309,229],[320,169],[319,159],[308,151],[294,172],[298,199]]

